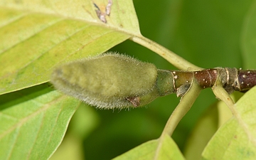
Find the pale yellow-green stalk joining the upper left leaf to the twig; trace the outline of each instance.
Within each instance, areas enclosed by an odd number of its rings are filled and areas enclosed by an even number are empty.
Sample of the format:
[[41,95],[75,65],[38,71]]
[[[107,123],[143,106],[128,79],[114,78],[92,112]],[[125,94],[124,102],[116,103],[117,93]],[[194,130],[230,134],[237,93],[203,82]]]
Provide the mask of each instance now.
[[176,53],[171,52],[171,50],[164,48],[163,46],[159,45],[158,43],[155,43],[154,41],[151,41],[142,35],[141,36],[133,36],[130,39],[136,43],[139,43],[142,46],[145,46],[146,48],[149,48],[150,50],[154,51],[155,53],[161,55],[161,57],[168,60],[169,63],[171,63],[172,65],[174,65],[176,68],[178,68],[180,70],[191,70],[191,71],[203,70],[203,68],[200,68],[196,65],[193,65],[192,63],[189,63],[187,60],[176,55]]

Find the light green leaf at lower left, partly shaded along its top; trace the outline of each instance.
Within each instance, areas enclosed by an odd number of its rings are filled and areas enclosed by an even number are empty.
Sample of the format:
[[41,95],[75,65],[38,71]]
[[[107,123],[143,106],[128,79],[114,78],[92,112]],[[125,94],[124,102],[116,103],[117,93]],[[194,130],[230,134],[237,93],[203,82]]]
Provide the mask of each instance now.
[[[37,90],[31,92],[31,90]],[[80,105],[40,85],[10,97],[22,97],[23,102],[0,112],[0,159],[48,159],[60,145],[70,118]],[[30,94],[29,94],[30,93]],[[2,96],[3,97],[3,96]],[[4,100],[3,100],[4,101]]]

